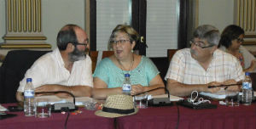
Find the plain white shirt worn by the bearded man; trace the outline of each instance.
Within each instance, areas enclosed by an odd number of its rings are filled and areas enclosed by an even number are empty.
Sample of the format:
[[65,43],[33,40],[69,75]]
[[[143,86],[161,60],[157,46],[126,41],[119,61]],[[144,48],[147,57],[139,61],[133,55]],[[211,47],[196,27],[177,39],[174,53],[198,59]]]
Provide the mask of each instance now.
[[32,64],[29,70],[26,70],[25,77],[20,81],[18,92],[24,91],[26,78],[32,78],[35,88],[46,84],[93,87],[91,59],[86,55],[85,59],[75,61],[72,71],[69,72],[65,68],[59,49],[56,48],[53,52],[44,54]]

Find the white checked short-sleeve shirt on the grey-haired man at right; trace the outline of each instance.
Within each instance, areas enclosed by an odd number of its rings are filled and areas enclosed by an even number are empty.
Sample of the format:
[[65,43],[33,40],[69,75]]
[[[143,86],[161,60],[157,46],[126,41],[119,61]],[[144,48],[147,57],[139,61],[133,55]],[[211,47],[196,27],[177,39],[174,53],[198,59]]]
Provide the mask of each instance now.
[[241,81],[244,79],[244,72],[236,57],[219,49],[214,51],[212,61],[205,70],[197,60],[191,57],[190,48],[184,48],[172,57],[165,79],[183,84],[207,84],[230,79]]

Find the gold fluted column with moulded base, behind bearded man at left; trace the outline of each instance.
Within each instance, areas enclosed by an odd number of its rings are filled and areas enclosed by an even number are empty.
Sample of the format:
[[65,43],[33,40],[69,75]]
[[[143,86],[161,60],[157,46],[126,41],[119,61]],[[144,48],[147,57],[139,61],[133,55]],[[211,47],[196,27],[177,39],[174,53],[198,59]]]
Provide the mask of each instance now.
[[[7,33],[0,48],[51,48],[42,31],[41,0],[6,0]],[[18,45],[17,45],[18,44]]]

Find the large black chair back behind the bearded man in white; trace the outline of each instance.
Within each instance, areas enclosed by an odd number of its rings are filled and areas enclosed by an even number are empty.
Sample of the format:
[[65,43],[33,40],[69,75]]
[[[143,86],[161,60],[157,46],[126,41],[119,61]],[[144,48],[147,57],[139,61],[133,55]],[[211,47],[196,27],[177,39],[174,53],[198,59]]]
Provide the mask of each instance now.
[[35,60],[50,51],[12,50],[0,68],[0,103],[15,103],[15,93]]

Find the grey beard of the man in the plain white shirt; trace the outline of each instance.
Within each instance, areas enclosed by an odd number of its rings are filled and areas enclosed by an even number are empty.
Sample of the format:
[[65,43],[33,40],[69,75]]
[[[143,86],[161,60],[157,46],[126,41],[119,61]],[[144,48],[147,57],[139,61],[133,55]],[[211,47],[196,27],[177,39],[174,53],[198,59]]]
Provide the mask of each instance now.
[[68,58],[71,62],[83,60],[86,58],[86,53],[89,52],[89,48],[85,48],[85,50],[79,50],[77,47],[74,48],[73,52],[68,53]]

